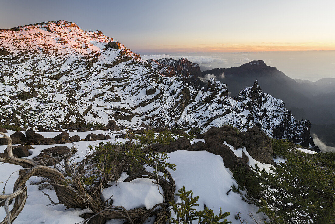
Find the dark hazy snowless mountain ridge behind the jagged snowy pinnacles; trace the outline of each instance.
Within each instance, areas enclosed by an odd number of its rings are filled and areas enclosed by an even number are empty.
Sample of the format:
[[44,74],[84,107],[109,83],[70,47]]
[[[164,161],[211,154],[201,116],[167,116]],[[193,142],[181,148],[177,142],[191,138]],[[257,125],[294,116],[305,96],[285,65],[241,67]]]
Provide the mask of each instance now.
[[262,60],[202,72],[202,77],[213,75],[228,85],[231,96],[257,79],[265,92],[282,99],[298,119],[307,118],[315,124],[335,124],[335,102],[329,102],[335,98],[335,78],[317,82],[293,80]]

